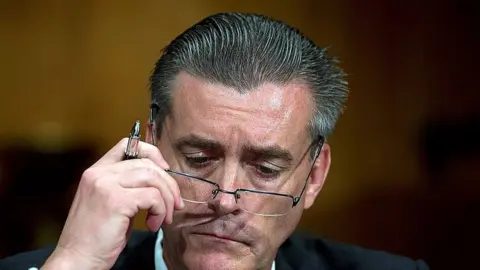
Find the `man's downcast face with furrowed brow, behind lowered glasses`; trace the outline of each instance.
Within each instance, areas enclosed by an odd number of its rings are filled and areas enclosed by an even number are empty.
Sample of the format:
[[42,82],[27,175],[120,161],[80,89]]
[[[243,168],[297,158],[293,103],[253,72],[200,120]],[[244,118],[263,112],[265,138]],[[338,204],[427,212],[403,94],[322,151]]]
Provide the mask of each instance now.
[[[298,196],[312,166],[308,91],[302,84],[265,84],[240,94],[181,73],[159,148],[172,170],[214,181],[224,190]],[[208,203],[185,202],[173,224],[163,228],[167,264],[188,269],[269,268],[321,188],[328,164],[316,168],[302,201],[284,216],[246,212],[226,193]]]

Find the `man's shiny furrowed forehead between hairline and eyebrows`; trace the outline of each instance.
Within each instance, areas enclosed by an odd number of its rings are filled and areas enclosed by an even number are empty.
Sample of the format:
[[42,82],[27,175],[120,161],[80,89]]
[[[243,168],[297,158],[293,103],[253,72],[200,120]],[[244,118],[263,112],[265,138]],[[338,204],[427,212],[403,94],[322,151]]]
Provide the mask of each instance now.
[[313,111],[309,91],[301,83],[266,83],[240,93],[180,73],[172,93],[171,122],[178,136],[194,132],[226,144],[249,141],[289,147],[308,141]]

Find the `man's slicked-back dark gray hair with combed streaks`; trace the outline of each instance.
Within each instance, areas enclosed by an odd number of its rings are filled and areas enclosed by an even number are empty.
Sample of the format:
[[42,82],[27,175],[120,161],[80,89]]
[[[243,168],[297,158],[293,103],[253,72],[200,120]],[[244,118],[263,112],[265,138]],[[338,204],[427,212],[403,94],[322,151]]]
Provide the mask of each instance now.
[[150,77],[160,134],[171,111],[171,86],[180,71],[248,92],[269,82],[306,83],[315,103],[308,130],[313,140],[335,127],[348,97],[345,74],[326,49],[297,29],[257,14],[219,13],[193,25],[164,50]]

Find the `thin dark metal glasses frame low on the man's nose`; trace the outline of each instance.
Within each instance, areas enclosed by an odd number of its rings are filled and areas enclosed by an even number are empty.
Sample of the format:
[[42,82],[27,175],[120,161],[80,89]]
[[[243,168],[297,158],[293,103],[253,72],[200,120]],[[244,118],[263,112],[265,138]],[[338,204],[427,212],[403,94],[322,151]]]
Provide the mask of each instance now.
[[[156,118],[156,114],[158,112],[158,109],[159,109],[159,107],[155,103],[153,103],[150,106],[149,126],[150,126],[150,134],[151,134],[151,137],[152,137],[151,140],[152,140],[153,145],[157,145],[157,142],[156,142],[157,141],[157,135],[156,135],[157,129],[156,129],[156,124],[155,124],[155,118]],[[312,146],[316,146],[315,155],[314,155],[314,158],[312,160],[312,166],[310,167],[308,175],[305,179],[305,184],[303,185],[302,191],[300,192],[300,194],[298,196],[289,195],[289,194],[285,194],[285,193],[270,192],[270,191],[263,191],[263,190],[256,190],[256,189],[245,189],[245,188],[238,188],[236,190],[231,191],[231,190],[223,189],[223,188],[220,187],[220,185],[218,183],[213,182],[213,181],[208,180],[208,179],[205,179],[205,178],[202,178],[202,177],[198,177],[198,176],[191,175],[191,174],[184,173],[184,172],[179,172],[179,171],[176,171],[176,170],[167,169],[165,171],[168,172],[168,173],[171,173],[171,174],[175,174],[175,175],[179,175],[179,176],[185,176],[185,177],[192,178],[192,179],[195,179],[195,180],[199,180],[199,181],[211,184],[212,186],[215,186],[216,188],[212,190],[212,195],[213,195],[212,199],[215,199],[216,196],[220,192],[222,192],[222,193],[225,193],[225,194],[233,195],[235,197],[235,202],[237,202],[237,200],[240,198],[239,192],[251,192],[251,193],[257,193],[257,194],[266,194],[266,195],[281,196],[281,197],[285,197],[285,198],[290,198],[290,199],[292,199],[292,208],[291,209],[293,209],[300,202],[303,194],[305,193],[305,189],[306,189],[307,184],[308,184],[308,178],[310,177],[310,175],[312,173],[313,167],[315,166],[315,161],[318,158],[318,156],[320,155],[320,152],[323,148],[324,143],[325,143],[325,138],[323,136],[319,136],[308,147],[307,151],[310,151]],[[188,200],[188,201],[191,201],[191,200]],[[256,214],[256,213],[254,213],[254,214]],[[258,215],[263,215],[263,214],[258,214]],[[279,215],[286,215],[286,213],[285,214],[279,214]],[[266,215],[266,216],[269,216],[269,215]],[[274,214],[272,216],[278,216],[278,215]]]

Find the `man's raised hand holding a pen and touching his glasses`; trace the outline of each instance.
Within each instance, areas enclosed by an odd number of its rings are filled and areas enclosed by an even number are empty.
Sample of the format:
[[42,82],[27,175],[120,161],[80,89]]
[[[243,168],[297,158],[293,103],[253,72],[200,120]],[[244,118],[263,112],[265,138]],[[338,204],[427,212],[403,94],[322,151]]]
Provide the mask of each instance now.
[[184,208],[158,148],[140,142],[138,159],[123,160],[126,145],[123,139],[83,173],[57,247],[42,269],[110,269],[139,210],[149,211],[146,224],[157,231]]

